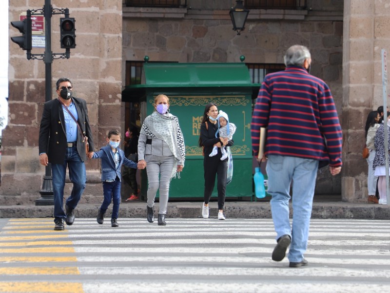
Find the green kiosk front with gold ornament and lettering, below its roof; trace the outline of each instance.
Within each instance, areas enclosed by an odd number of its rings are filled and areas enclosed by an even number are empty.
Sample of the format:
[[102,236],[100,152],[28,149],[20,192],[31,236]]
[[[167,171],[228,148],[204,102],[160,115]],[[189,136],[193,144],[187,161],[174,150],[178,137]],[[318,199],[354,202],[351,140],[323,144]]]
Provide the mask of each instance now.
[[[200,124],[205,106],[213,102],[237,127],[234,135],[233,180],[226,188],[227,197],[252,196],[251,95],[182,96],[168,95],[170,112],[177,116],[186,145],[186,161],[180,179],[174,178],[170,198],[203,197],[204,175],[202,148],[198,145]],[[154,97],[147,101],[147,112],[153,111]],[[216,184],[212,196],[217,196]]]

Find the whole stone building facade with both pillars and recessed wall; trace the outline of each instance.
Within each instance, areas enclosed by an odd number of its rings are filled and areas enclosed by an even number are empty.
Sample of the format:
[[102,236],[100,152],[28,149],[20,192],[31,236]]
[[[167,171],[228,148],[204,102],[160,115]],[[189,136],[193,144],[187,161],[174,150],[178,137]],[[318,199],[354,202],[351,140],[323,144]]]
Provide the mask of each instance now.
[[[69,60],[53,62],[53,84],[72,79],[76,96],[88,103],[96,147],[109,128],[124,133],[126,62],[283,63],[285,50],[303,44],[312,53],[312,74],[325,80],[344,131],[344,167],[331,177],[321,172],[317,193],[342,193],[356,202],[367,195],[367,165],[361,159],[363,125],[380,100],[380,48],[390,45],[390,8],[385,1],[306,0],[304,9],[251,9],[245,30],[232,30],[229,9],[234,0],[181,0],[176,8],[126,7],[123,0],[71,1],[77,46]],[[43,0],[9,1],[9,19],[43,6]],[[63,1],[52,0],[53,7]],[[59,16],[52,19],[53,51],[59,49]],[[10,36],[17,35],[10,27]],[[37,52],[42,49],[34,49]],[[38,133],[44,103],[44,63],[26,60],[9,45],[9,121],[3,131],[0,204],[33,203],[39,197],[44,167],[38,161]],[[53,87],[53,94],[54,87]],[[120,115],[118,115],[120,113]],[[87,162],[82,201],[100,201],[97,161]],[[67,192],[71,186],[67,184]]]

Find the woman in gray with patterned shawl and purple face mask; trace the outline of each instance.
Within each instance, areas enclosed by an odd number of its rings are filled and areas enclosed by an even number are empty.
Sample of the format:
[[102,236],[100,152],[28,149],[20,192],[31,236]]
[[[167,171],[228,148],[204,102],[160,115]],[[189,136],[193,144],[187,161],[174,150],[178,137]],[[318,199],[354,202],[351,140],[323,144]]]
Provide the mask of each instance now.
[[185,146],[183,133],[176,116],[168,112],[169,99],[166,95],[155,98],[154,111],[145,118],[138,139],[138,169],[148,174],[147,219],[154,222],[154,205],[159,190],[158,225],[165,226],[169,185],[171,179],[180,178],[184,167]]

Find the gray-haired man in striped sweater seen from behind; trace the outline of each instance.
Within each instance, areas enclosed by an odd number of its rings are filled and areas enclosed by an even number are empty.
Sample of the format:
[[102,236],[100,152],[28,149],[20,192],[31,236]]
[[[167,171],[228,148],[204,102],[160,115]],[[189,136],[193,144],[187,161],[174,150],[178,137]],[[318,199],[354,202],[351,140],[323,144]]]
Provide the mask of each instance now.
[[[281,261],[290,246],[290,267],[306,266],[312,201],[317,169],[329,163],[340,173],[342,131],[329,86],[312,76],[309,49],[294,45],[284,56],[286,69],[268,74],[258,93],[251,123],[257,156],[260,127],[268,127],[268,193],[277,244],[272,253]],[[265,156],[262,160],[265,160]],[[292,184],[292,227],[289,220]]]

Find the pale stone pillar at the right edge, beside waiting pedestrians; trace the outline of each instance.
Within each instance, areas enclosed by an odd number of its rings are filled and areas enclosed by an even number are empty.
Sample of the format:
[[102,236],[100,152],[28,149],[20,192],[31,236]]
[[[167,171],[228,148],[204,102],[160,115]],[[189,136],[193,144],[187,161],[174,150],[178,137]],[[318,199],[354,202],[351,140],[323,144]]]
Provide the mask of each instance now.
[[[367,163],[362,159],[367,115],[383,105],[381,49],[390,51],[388,1],[344,1],[342,196],[367,200]],[[389,105],[389,101],[387,101]]]

